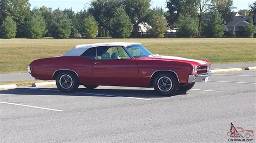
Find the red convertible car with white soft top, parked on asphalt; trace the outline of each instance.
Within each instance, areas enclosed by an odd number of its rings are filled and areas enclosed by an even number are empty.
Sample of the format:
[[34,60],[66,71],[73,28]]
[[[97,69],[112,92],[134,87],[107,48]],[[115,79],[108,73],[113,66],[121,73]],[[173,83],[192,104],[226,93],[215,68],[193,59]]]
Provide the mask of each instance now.
[[38,80],[56,80],[63,92],[79,85],[113,85],[153,87],[165,96],[189,90],[211,75],[208,61],[155,55],[134,42],[78,45],[62,56],[33,61],[28,71]]

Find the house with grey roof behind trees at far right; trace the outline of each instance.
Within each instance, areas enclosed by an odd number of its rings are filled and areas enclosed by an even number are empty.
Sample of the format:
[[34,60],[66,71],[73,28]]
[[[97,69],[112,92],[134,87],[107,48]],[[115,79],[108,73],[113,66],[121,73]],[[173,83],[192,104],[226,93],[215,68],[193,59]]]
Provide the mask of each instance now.
[[250,24],[250,16],[246,16],[246,12],[244,16],[237,16],[238,13],[234,14],[234,17],[231,22],[227,23],[226,25],[226,32],[236,31],[236,32],[243,32],[245,26]]

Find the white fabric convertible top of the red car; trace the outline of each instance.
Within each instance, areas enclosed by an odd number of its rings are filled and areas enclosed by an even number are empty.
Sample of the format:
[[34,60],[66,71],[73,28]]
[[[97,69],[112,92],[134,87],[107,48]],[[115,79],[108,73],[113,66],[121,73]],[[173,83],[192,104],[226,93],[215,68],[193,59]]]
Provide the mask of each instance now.
[[130,45],[142,45],[139,42],[102,42],[102,43],[95,43],[95,44],[84,44],[84,45],[77,45],[75,48],[71,49],[68,53],[64,54],[63,56],[80,56],[82,55],[87,49],[92,47],[99,47],[99,46],[130,46]]

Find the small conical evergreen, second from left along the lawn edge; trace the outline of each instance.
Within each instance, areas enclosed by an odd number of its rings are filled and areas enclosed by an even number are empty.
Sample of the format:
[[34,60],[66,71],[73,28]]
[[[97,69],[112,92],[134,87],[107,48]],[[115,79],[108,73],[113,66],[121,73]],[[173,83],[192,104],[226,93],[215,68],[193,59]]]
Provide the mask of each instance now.
[[32,39],[42,38],[46,33],[46,23],[44,22],[44,17],[38,9],[32,10],[32,15],[28,22],[26,22],[28,37]]

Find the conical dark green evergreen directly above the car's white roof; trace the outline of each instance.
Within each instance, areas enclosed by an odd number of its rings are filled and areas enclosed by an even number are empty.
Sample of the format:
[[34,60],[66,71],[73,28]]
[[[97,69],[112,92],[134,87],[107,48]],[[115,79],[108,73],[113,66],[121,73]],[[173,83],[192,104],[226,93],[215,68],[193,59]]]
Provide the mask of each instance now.
[[113,31],[113,37],[127,38],[130,36],[132,31],[131,19],[122,7],[119,7],[114,14],[111,29]]

